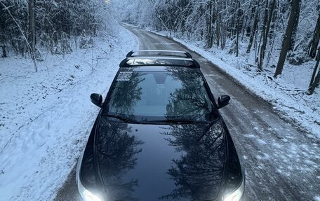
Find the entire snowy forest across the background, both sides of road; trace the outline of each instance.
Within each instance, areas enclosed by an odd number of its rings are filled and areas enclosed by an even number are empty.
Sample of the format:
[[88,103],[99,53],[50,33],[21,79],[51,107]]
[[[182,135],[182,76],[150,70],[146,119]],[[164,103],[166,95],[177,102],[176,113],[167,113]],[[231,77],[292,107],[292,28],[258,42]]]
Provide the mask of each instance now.
[[87,36],[108,34],[112,25],[106,22],[116,15],[131,25],[199,41],[204,48],[247,55],[258,72],[274,68],[274,78],[286,61],[316,60],[309,94],[319,85],[320,1],[1,0],[0,10],[2,57],[13,51],[41,61],[41,48],[63,55],[72,44],[85,48],[92,43]]

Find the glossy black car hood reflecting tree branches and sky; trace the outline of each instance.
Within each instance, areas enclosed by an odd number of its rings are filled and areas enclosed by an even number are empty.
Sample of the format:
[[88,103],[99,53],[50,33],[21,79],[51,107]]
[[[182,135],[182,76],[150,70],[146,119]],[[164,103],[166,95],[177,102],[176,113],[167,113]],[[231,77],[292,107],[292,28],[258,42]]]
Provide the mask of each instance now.
[[106,200],[213,200],[225,169],[225,134],[211,124],[141,125],[101,118],[95,170]]

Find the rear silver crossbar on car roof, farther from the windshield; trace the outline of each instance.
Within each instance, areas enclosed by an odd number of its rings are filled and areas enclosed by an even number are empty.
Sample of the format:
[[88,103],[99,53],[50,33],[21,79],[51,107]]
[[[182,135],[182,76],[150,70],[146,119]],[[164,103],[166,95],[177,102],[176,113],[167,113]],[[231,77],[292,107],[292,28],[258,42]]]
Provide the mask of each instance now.
[[[134,55],[139,53],[139,55]],[[131,50],[126,57],[142,57],[142,56],[174,56],[174,57],[185,57],[192,59],[192,55],[185,51],[175,51],[175,50]]]

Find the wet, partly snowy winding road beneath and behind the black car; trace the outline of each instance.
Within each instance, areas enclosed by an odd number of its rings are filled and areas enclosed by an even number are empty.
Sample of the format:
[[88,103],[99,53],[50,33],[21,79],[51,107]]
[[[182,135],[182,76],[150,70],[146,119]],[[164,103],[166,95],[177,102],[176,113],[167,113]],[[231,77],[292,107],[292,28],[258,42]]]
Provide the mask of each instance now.
[[[187,50],[163,36],[126,28],[138,37],[140,49]],[[246,168],[244,200],[319,199],[319,139],[279,118],[272,106],[200,55],[192,53],[192,57],[200,63],[215,98],[219,95],[232,98],[231,104],[221,111]],[[74,172],[55,200],[79,200]]]

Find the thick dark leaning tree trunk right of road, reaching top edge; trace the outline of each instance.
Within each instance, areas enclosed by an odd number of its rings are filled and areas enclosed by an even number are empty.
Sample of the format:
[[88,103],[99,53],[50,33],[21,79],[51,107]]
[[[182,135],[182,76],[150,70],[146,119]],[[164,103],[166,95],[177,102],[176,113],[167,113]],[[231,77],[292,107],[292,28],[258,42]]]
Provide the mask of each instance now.
[[286,34],[284,35],[284,41],[282,43],[282,48],[279,56],[278,64],[276,65],[276,71],[274,73],[274,77],[280,75],[282,73],[282,69],[284,69],[284,62],[286,60],[286,55],[288,53],[288,49],[291,45],[291,36],[293,33],[295,21],[298,16],[298,7],[301,0],[292,0],[291,3],[291,13],[288,20],[288,25],[286,27]]

